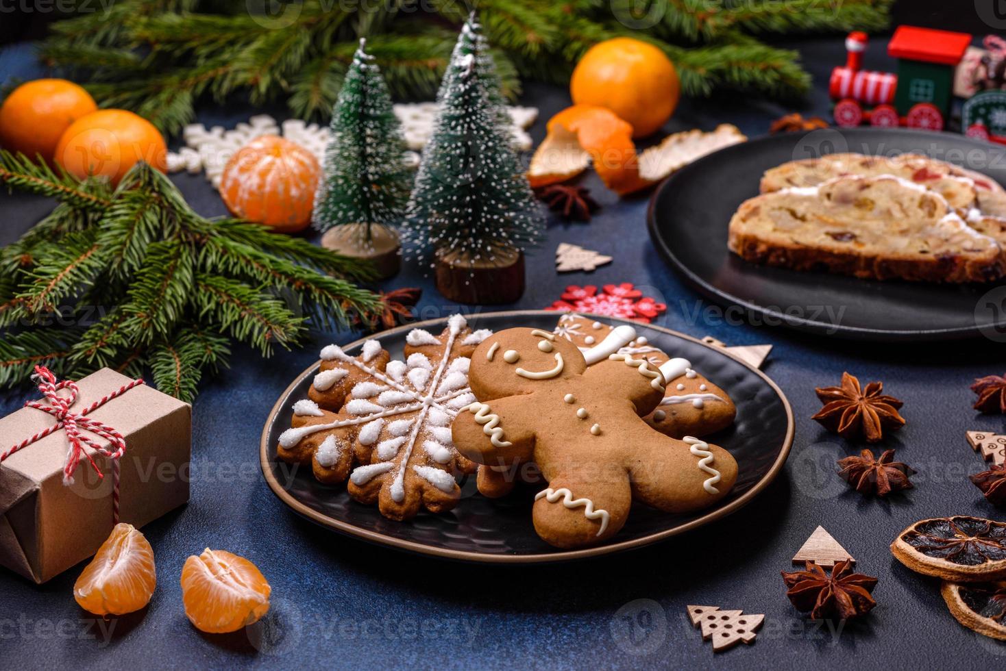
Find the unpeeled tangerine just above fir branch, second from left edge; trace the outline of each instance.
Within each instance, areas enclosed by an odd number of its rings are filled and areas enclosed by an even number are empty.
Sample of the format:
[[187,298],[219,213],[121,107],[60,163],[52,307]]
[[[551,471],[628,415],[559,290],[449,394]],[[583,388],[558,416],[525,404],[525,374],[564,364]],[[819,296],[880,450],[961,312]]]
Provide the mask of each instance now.
[[126,109],[99,109],[63,132],[55,161],[79,179],[104,175],[119,184],[140,161],[166,172],[167,155],[164,136],[143,117]]

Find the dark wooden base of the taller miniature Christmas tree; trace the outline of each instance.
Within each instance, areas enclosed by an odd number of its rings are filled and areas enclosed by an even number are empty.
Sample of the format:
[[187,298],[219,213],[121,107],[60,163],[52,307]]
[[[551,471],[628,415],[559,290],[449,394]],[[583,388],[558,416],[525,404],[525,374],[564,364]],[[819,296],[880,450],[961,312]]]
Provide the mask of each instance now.
[[438,254],[437,289],[459,303],[512,303],[524,293],[524,254],[512,250],[495,260],[470,261],[456,253]]

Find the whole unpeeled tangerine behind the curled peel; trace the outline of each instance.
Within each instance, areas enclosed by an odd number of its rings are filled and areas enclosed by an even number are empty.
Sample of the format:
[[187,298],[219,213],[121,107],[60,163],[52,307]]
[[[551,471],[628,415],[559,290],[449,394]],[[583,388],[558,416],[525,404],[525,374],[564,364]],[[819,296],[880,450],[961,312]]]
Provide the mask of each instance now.
[[674,114],[681,83],[674,63],[653,44],[616,37],[592,46],[569,80],[575,104],[608,107],[633,127],[633,138],[648,136]]

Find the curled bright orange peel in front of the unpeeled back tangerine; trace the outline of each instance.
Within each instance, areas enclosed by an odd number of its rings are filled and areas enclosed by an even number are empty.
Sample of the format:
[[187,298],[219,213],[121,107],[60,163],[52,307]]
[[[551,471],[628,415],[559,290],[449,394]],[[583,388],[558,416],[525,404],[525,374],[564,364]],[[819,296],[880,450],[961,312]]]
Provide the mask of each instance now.
[[531,157],[527,178],[537,189],[575,177],[592,162],[616,193],[647,186],[639,177],[632,126],[594,104],[574,104],[548,120],[547,135]]

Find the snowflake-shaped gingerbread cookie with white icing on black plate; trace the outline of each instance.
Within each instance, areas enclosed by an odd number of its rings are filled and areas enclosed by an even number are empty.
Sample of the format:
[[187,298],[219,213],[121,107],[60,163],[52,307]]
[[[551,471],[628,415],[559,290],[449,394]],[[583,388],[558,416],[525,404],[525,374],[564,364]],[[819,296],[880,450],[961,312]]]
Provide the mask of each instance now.
[[439,336],[409,331],[404,361],[390,361],[376,340],[356,357],[326,347],[310,398],[294,405],[293,426],[280,436],[279,458],[310,463],[322,482],[348,479],[350,496],[391,519],[451,509],[461,496],[455,474],[476,470],[455,449],[451,423],[475,401],[469,358],[490,334],[455,314]]

